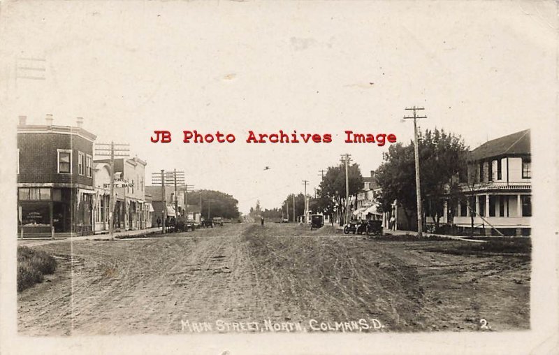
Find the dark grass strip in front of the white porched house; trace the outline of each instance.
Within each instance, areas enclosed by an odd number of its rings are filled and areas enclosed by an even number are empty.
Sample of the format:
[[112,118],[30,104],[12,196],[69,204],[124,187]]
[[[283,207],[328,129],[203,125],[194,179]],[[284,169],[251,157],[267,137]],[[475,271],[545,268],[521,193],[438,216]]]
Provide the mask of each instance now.
[[[481,239],[481,238],[478,238]],[[452,242],[440,247],[426,249],[428,252],[446,254],[523,254],[530,256],[532,240],[530,238],[483,238],[486,242]]]

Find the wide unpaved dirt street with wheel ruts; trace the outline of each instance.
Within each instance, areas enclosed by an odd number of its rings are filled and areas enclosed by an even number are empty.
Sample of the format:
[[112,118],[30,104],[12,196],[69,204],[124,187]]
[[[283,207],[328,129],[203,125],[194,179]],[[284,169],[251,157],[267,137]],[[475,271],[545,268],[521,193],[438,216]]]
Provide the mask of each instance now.
[[379,331],[477,330],[480,319],[496,331],[528,328],[529,258],[430,251],[457,243],[467,242],[232,224],[164,238],[38,245],[59,267],[18,295],[19,329],[173,334],[191,331],[186,321],[216,331],[219,320],[251,331],[246,324],[268,319],[306,331],[312,319],[315,326],[377,319]]

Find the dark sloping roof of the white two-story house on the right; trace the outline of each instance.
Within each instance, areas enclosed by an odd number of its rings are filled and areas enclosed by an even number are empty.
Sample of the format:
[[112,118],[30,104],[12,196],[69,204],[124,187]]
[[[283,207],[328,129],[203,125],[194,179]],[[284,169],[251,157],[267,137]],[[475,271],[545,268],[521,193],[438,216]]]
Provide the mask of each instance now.
[[505,155],[530,154],[530,129],[489,140],[472,150],[470,160],[477,161]]

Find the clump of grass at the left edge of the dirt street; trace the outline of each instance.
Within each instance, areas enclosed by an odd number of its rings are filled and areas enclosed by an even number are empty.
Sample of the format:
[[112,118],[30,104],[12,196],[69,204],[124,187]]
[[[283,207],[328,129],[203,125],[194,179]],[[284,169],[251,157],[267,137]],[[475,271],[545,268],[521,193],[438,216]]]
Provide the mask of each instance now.
[[55,273],[57,261],[45,252],[29,247],[17,247],[17,291],[23,291],[37,282],[43,275]]

